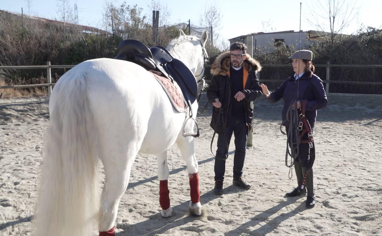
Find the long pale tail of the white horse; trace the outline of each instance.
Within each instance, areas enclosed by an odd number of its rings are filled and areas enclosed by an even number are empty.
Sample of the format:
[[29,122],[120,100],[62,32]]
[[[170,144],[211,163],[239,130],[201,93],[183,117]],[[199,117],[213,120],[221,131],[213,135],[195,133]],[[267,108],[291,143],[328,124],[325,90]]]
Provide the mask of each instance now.
[[36,235],[91,235],[99,218],[98,133],[84,72],[71,73],[53,89]]

